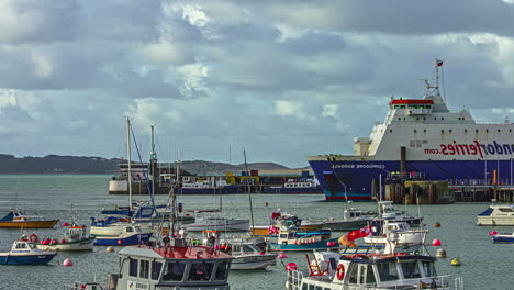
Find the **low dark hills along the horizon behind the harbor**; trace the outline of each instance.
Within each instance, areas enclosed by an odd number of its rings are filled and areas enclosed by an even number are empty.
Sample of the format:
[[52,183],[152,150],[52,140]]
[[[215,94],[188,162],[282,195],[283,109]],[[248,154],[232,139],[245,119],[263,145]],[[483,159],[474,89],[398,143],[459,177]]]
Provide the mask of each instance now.
[[[118,174],[120,158],[58,156],[15,157],[0,154],[0,174]],[[174,166],[171,164],[170,166]],[[195,175],[224,175],[225,172],[245,171],[245,165],[230,165],[206,160],[186,160],[182,168]],[[305,168],[309,168],[306,166]],[[248,170],[289,170],[290,168],[275,163],[252,163]]]

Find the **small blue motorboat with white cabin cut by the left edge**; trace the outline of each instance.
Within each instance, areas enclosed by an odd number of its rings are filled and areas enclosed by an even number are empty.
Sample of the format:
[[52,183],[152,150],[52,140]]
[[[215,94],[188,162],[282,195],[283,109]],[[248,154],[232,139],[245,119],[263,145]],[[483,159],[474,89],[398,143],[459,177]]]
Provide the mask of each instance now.
[[29,241],[15,241],[11,250],[0,253],[0,265],[48,264],[57,253],[44,252]]

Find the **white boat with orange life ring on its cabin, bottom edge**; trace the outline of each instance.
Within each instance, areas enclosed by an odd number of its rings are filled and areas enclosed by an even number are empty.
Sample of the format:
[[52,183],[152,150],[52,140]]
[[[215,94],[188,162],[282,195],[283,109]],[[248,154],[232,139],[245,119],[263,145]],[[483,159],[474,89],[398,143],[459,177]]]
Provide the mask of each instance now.
[[[425,255],[356,254],[316,258],[309,276],[288,272],[288,290],[463,289],[460,277],[437,276],[435,257]],[[456,281],[454,281],[454,279]]]

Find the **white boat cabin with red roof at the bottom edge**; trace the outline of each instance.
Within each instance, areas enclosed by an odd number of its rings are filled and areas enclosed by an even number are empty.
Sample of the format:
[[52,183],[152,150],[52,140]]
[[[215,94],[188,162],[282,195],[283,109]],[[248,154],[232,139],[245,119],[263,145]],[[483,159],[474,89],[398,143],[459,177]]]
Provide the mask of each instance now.
[[119,253],[116,289],[228,289],[232,257],[208,247],[125,247]]

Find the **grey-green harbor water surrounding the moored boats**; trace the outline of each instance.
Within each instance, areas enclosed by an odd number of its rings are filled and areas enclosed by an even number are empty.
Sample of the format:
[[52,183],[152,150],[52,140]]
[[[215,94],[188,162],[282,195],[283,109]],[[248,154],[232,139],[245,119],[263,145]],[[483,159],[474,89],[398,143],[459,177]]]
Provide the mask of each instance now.
[[[37,213],[46,217],[69,221],[72,204],[76,216],[89,222],[98,216],[103,208],[114,204],[127,204],[126,196],[108,196],[110,176],[0,176],[0,215],[9,210],[20,209],[26,213]],[[253,208],[256,225],[269,224],[272,211],[297,213],[303,219],[326,220],[339,217],[343,203],[321,202],[323,196],[281,196],[253,194]],[[136,197],[145,200],[145,197]],[[157,197],[164,202],[166,197]],[[183,196],[179,202],[186,210],[213,209],[219,205],[217,197]],[[267,207],[266,203],[269,205]],[[373,203],[355,203],[362,210],[376,210]],[[396,205],[409,213],[420,211],[429,230],[428,239],[439,238],[448,258],[439,259],[437,267],[440,275],[462,275],[466,289],[514,289],[512,261],[514,245],[492,244],[488,233],[512,232],[514,227],[478,227],[474,225],[477,214],[488,203],[456,203],[448,205]],[[248,196],[223,197],[225,217],[248,217]],[[1,217],[1,216],[0,216]],[[434,227],[439,222],[442,227]],[[57,236],[65,232],[60,226],[54,230],[30,230],[40,236]],[[9,250],[11,243],[20,236],[20,230],[0,228],[0,252]],[[335,233],[339,236],[342,233]],[[435,249],[428,246],[432,254]],[[119,249],[116,249],[119,250]],[[294,261],[299,268],[306,269],[304,254],[288,254],[283,261]],[[450,259],[459,257],[462,266],[450,266]],[[63,267],[64,259],[71,258],[74,267]],[[72,281],[105,281],[108,272],[118,271],[118,256],[105,253],[104,247],[96,247],[92,253],[59,253],[48,266],[3,266],[0,265],[0,289],[63,289]],[[282,265],[269,267],[261,271],[231,271],[232,289],[284,289],[286,274]]]

